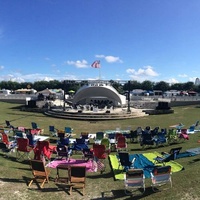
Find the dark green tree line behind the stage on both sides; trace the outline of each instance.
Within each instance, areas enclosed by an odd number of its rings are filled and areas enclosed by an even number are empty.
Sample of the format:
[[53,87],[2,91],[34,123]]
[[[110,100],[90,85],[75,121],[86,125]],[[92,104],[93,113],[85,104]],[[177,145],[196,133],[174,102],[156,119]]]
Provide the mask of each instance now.
[[[142,89],[147,91],[160,90],[162,92],[168,90],[178,90],[178,91],[195,91],[200,93],[200,85],[195,85],[193,82],[189,81],[186,83],[174,83],[169,84],[165,81],[152,82],[149,80],[138,82],[134,80],[130,81],[115,81],[110,80],[110,84],[121,94],[132,91],[134,89]],[[37,91],[49,89],[63,89],[66,93],[70,90],[77,91],[81,86],[87,84],[87,80],[76,81],[76,80],[51,80],[51,81],[36,81],[36,82],[14,82],[14,81],[1,81],[0,88],[8,90],[17,90],[21,88],[32,88]]]

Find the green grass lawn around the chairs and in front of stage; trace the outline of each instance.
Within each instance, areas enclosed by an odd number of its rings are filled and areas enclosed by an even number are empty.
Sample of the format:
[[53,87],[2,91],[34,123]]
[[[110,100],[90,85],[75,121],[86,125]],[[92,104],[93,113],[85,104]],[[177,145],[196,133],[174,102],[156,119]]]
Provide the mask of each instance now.
[[[169,128],[170,125],[183,123],[186,128],[200,120],[200,108],[197,106],[176,107],[173,114],[166,115],[151,115],[142,118],[134,118],[127,120],[113,121],[98,121],[90,123],[88,121],[56,119],[43,115],[42,113],[20,111],[19,104],[10,104],[0,102],[0,126],[5,126],[5,120],[9,120],[13,126],[31,127],[31,122],[36,122],[44,129],[44,135],[49,134],[49,125],[54,125],[58,129],[64,129],[65,126],[70,126],[74,129],[74,133],[79,137],[81,132],[96,133],[97,131],[105,131],[110,129],[126,129],[131,126],[136,129],[138,126],[152,128],[159,126],[160,128]],[[190,135],[188,141],[179,144],[160,146],[158,148],[142,149],[137,143],[128,141],[128,152],[144,153],[144,152],[163,152],[169,151],[176,146],[182,147],[182,152],[195,147],[200,147],[200,132]],[[55,143],[54,143],[55,144]],[[116,152],[112,152],[116,154]],[[137,191],[135,197],[130,197],[124,193],[124,182],[115,181],[113,173],[106,160],[106,171],[101,174],[87,173],[86,195],[82,196],[78,192],[73,192],[70,196],[66,185],[57,185],[54,182],[56,170],[51,170],[50,183],[45,184],[44,189],[38,189],[35,183],[30,188],[27,187],[28,181],[32,177],[28,162],[16,161],[15,153],[12,153],[9,158],[0,153],[0,200],[1,199],[44,199],[44,200],[64,200],[64,199],[200,199],[200,155],[177,159],[176,161],[184,166],[184,170],[172,174],[173,188],[153,192],[151,189],[151,180],[146,179],[146,191],[143,195],[139,195]],[[73,155],[72,157],[81,158],[81,154]],[[63,171],[63,175],[67,176],[67,172]],[[65,173],[65,174],[64,174]]]

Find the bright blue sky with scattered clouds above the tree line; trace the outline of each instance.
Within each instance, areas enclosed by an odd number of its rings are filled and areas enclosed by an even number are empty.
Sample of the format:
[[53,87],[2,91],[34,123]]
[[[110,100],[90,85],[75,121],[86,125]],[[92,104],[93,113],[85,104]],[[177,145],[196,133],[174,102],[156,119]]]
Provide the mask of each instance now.
[[195,81],[199,11],[199,0],[0,0],[0,81]]

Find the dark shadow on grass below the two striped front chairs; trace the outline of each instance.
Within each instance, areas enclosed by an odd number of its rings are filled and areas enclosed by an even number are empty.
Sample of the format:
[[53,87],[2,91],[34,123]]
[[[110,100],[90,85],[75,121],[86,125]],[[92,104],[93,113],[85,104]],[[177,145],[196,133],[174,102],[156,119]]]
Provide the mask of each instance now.
[[112,199],[121,199],[129,200],[129,199],[144,199],[145,197],[148,197],[152,195],[154,192],[151,187],[146,188],[145,192],[143,193],[143,189],[137,189],[133,192],[130,192],[130,195],[125,194],[125,190],[119,189],[119,190],[110,190],[110,191],[104,191],[101,192],[101,196],[97,198],[93,198],[91,200],[112,200]]

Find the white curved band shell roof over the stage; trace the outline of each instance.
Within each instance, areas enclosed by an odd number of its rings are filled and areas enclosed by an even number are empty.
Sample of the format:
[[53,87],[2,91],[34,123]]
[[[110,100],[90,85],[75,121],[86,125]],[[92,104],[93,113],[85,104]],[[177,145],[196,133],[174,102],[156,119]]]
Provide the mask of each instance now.
[[81,87],[74,95],[73,104],[89,104],[93,100],[108,100],[114,106],[126,104],[126,96],[119,94],[111,85],[102,82]]

